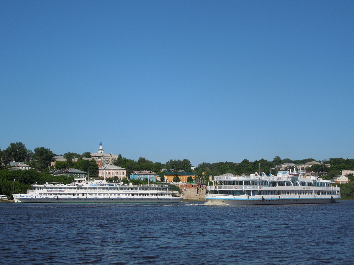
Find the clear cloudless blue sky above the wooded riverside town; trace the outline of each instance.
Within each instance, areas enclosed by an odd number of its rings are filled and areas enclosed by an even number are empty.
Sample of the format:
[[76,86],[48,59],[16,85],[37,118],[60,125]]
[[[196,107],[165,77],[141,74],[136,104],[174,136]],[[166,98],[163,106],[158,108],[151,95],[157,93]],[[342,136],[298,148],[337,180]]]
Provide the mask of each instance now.
[[354,158],[354,1],[0,1],[0,147]]

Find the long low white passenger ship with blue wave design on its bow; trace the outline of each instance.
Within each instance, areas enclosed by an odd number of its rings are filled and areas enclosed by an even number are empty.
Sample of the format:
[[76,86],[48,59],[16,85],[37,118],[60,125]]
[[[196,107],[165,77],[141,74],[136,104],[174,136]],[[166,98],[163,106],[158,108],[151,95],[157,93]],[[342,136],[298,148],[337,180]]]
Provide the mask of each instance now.
[[107,183],[74,179],[70,184],[34,184],[27,194],[13,194],[15,202],[179,202],[182,196],[167,185]]

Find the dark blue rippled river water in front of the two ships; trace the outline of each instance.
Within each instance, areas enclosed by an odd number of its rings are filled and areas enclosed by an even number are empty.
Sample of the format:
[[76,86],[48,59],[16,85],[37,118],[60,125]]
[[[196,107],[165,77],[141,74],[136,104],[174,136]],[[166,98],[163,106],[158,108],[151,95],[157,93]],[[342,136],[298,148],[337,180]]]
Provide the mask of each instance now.
[[354,264],[354,201],[0,204],[1,264]]

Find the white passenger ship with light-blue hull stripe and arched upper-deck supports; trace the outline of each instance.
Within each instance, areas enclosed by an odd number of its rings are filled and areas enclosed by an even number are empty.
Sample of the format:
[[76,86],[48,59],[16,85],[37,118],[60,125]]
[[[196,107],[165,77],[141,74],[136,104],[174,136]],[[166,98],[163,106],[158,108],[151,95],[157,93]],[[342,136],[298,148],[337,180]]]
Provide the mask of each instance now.
[[276,176],[215,176],[207,187],[206,200],[227,205],[332,203],[341,198],[333,181],[305,172],[280,171]]

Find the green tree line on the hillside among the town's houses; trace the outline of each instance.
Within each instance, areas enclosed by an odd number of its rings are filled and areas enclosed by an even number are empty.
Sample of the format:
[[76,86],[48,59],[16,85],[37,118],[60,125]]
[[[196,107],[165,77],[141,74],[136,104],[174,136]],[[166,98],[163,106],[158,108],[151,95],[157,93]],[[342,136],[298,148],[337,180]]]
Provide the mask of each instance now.
[[[44,174],[48,173],[48,166],[51,162],[54,161],[53,157],[56,154],[53,153],[49,148],[45,147],[37,147],[34,149],[34,152],[27,149],[22,142],[11,143],[6,149],[1,150],[0,148],[0,169],[4,168],[4,165],[7,165],[13,159],[15,161],[24,161],[26,164],[32,166],[35,169],[42,170]],[[90,176],[98,175],[98,167],[95,160],[85,160],[82,158],[91,158],[90,152],[84,152],[82,154],[68,152],[65,153],[64,158],[65,161],[56,161],[54,166],[56,169],[64,169],[64,168],[76,168],[85,172],[89,172]],[[78,160],[74,163],[72,161],[73,158],[77,158]],[[283,163],[294,163],[294,164],[304,164],[306,162],[316,161],[313,158],[307,158],[302,160],[291,160],[289,158],[281,159],[279,156],[276,156],[272,161],[267,159],[260,159],[255,161],[249,161],[244,159],[241,163],[234,163],[234,162],[216,162],[216,163],[208,163],[203,162],[195,168],[194,174],[197,177],[205,178],[206,180],[209,179],[209,176],[218,176],[224,173],[233,173],[235,175],[241,175],[241,173],[251,174],[254,172],[259,171],[259,164],[260,164],[260,171],[264,172],[265,174],[269,175],[272,173],[276,175],[278,170],[275,168],[276,165],[280,165]],[[323,176],[324,179],[330,180],[332,177],[339,175],[341,170],[350,170],[354,169],[354,159],[343,159],[343,158],[330,158],[319,160],[318,162],[322,163],[320,165],[313,165],[308,167],[306,170],[309,171],[324,171],[328,174]],[[331,167],[326,166],[326,164],[332,165]],[[153,162],[148,160],[144,157],[139,157],[137,160],[129,159],[122,157],[121,154],[118,155],[118,158],[113,161],[113,165],[124,167],[127,169],[127,175],[129,177],[130,172],[132,171],[153,171],[157,174],[161,173],[161,180],[163,180],[163,175],[166,171],[170,171],[172,169],[176,169],[178,172],[179,170],[184,171],[191,171],[191,163],[188,159],[170,159],[166,161],[166,163],[160,162]],[[6,167],[5,167],[6,168]],[[16,172],[14,173],[16,175]],[[11,180],[11,179],[10,179]],[[178,173],[176,173],[176,180],[178,180]],[[189,179],[191,180],[191,179]],[[354,180],[354,179],[353,179]],[[353,181],[354,183],[354,181]],[[33,183],[32,183],[33,184]],[[28,185],[28,184],[24,184]],[[350,184],[352,185],[352,184]],[[348,187],[352,187],[348,185]],[[354,185],[354,184],[353,184]],[[26,186],[27,187],[27,186]],[[353,193],[351,193],[351,189],[348,188],[346,185],[343,186],[346,195],[354,196],[354,188]],[[354,187],[354,186],[353,186]],[[350,195],[352,194],[352,195]]]

